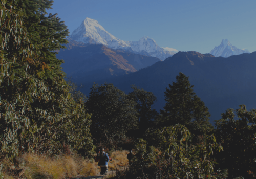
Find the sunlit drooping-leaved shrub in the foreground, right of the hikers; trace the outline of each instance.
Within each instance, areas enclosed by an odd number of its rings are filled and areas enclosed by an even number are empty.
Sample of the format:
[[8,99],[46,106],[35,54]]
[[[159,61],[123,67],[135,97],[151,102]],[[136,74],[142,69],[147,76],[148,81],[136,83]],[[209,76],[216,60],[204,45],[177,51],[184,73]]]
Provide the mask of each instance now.
[[140,139],[136,146],[127,178],[221,178],[225,171],[215,171],[212,155],[221,151],[213,135],[206,136],[199,145],[188,146],[191,137],[183,125],[165,127],[157,135],[161,140],[158,148],[147,147]]

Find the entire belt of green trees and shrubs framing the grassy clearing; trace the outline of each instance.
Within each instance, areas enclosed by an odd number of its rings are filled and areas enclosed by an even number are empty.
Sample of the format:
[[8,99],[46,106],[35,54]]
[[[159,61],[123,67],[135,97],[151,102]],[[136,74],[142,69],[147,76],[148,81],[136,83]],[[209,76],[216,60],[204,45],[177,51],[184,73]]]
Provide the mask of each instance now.
[[69,32],[57,14],[47,16],[52,3],[1,0],[0,160],[15,171],[24,153],[90,159],[101,145],[135,150],[129,170],[116,177],[255,177],[256,110],[228,109],[214,129],[182,73],[166,88],[160,114],[152,109],[155,95],[136,86],[125,94],[94,84],[86,97],[64,79],[55,56]]

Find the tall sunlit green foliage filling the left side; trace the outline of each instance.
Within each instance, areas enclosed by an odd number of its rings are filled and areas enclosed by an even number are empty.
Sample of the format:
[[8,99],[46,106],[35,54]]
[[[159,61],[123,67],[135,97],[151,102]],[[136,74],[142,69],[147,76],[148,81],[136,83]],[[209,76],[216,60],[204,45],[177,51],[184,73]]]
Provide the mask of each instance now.
[[45,16],[52,2],[1,0],[0,149],[11,158],[24,151],[58,153],[63,142],[93,147],[90,116],[71,98],[62,61],[52,52],[68,34],[56,14]]

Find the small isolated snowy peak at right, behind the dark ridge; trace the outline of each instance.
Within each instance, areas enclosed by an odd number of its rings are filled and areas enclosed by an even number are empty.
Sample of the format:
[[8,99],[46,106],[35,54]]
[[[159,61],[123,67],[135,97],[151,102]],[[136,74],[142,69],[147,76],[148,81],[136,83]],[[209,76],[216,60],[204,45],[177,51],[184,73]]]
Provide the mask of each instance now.
[[210,51],[211,55],[215,57],[229,57],[231,55],[240,55],[243,53],[250,53],[247,49],[238,49],[228,41],[228,39],[223,39],[221,44]]

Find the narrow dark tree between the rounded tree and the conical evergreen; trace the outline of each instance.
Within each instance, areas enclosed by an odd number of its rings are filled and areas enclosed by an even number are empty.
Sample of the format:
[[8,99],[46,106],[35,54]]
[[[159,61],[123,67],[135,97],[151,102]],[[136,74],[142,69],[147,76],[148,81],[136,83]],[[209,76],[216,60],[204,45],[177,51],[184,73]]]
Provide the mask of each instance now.
[[146,129],[153,127],[153,121],[158,116],[152,105],[156,102],[157,98],[152,92],[147,92],[143,88],[132,86],[133,92],[129,93],[129,98],[136,102],[135,108],[138,111],[138,124],[140,137],[144,134]]

